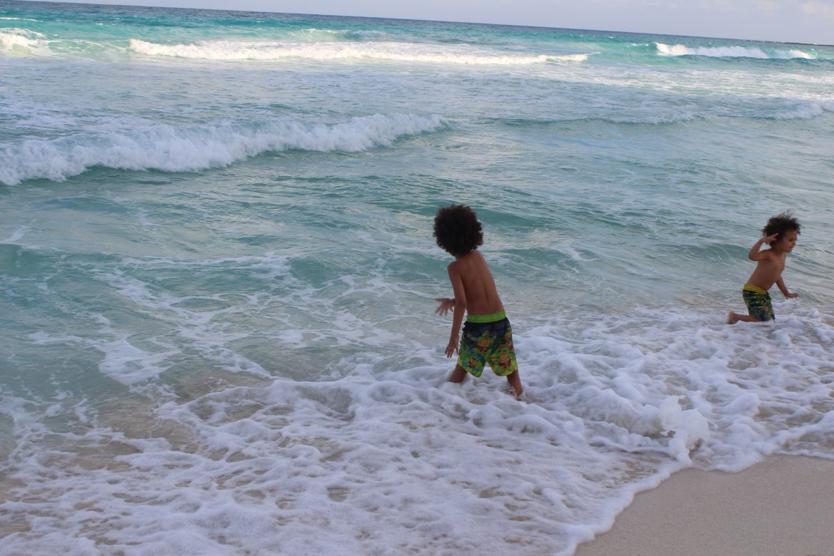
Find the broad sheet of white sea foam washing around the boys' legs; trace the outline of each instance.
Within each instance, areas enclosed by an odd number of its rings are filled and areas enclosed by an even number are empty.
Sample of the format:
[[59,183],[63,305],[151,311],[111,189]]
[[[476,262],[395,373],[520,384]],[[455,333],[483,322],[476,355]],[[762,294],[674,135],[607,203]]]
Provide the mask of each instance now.
[[[678,468],[829,453],[834,329],[778,309],[775,328],[668,312],[530,328],[517,334],[523,402],[492,376],[446,383],[430,348],[417,355],[436,364],[386,370],[370,351],[342,378],[155,408],[3,398],[20,469],[0,503],[20,532],[4,546],[569,554]],[[76,415],[73,433],[40,410]]]

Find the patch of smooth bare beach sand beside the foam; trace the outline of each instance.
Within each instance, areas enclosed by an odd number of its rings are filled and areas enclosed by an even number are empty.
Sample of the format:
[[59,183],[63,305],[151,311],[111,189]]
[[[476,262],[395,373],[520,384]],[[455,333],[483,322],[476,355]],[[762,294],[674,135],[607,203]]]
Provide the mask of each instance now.
[[685,469],[640,493],[575,556],[834,556],[834,461],[771,456]]

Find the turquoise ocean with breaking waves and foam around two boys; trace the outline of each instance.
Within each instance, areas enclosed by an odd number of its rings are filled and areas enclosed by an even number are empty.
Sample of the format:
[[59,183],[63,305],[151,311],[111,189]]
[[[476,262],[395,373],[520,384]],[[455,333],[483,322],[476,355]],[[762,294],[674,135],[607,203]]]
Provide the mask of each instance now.
[[[0,553],[569,555],[834,458],[832,175],[830,46],[2,0]],[[451,203],[520,400],[447,382]]]

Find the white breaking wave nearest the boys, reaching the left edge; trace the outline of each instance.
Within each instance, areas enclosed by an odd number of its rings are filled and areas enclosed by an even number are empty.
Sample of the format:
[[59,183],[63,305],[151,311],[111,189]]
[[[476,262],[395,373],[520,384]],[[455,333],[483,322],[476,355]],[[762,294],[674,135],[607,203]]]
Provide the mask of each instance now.
[[61,182],[95,166],[193,172],[289,149],[359,152],[445,125],[437,115],[394,113],[330,125],[285,120],[187,128],[156,125],[120,133],[28,139],[0,149],[0,183],[17,185],[37,178]]

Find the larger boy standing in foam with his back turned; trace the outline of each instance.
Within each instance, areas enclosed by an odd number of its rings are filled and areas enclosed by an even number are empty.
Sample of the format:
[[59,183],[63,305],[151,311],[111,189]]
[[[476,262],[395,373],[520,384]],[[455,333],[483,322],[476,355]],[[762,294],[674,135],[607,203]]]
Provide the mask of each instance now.
[[[466,373],[480,377],[484,364],[489,363],[493,373],[507,378],[518,398],[521,380],[515,362],[513,332],[490,267],[477,250],[484,243],[484,233],[475,211],[465,205],[441,208],[435,216],[433,235],[440,248],[455,257],[448,268],[455,298],[435,299],[440,302],[435,313],[443,316],[454,309],[446,357],[455,352],[459,356],[449,380],[460,383]],[[464,313],[467,316],[459,348],[458,333]]]

